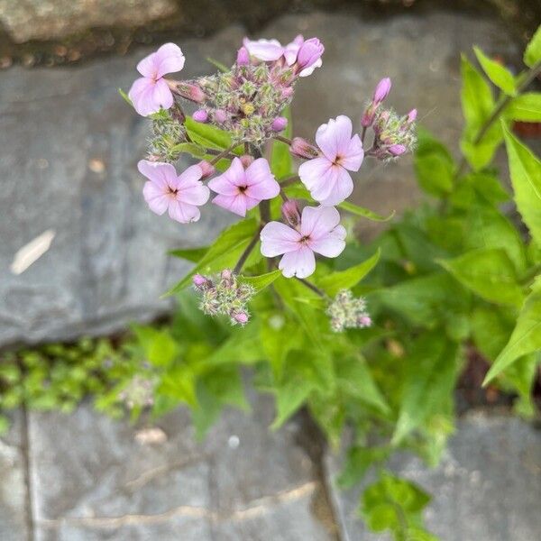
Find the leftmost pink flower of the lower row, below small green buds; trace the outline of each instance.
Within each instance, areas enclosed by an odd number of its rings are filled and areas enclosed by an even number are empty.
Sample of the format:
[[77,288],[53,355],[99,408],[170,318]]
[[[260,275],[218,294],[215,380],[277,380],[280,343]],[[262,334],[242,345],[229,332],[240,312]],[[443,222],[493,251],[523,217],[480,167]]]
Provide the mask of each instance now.
[[205,205],[210,190],[199,179],[203,170],[198,165],[188,167],[182,174],[170,163],[141,160],[137,169],[147,178],[142,195],[151,207],[151,211],[162,215],[169,210],[169,215],[180,224],[197,222],[201,213],[197,206]]

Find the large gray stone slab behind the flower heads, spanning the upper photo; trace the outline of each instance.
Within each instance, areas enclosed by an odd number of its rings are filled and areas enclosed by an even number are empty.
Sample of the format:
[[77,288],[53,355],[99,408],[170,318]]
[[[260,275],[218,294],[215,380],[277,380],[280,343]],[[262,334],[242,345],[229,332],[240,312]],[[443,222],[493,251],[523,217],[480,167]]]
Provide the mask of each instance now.
[[[423,124],[455,143],[460,51],[478,43],[510,58],[515,50],[499,23],[444,13],[379,21],[289,15],[260,35],[288,41],[298,32],[326,43],[324,68],[298,85],[293,113],[296,132],[305,136],[331,115],[358,118],[377,80],[389,75],[390,103],[404,112],[417,106]],[[205,40],[179,41],[183,75],[209,72],[207,56],[232,62],[243,34],[232,26]],[[199,223],[182,226],[144,204],[135,166],[147,124],[116,89],[130,86],[136,61],[148,51],[71,69],[2,71],[0,345],[111,333],[167,311],[160,294],[185,266],[166,250],[207,243],[232,219],[207,206]],[[410,158],[387,167],[367,160],[354,197],[380,212],[411,204],[418,192]],[[362,227],[370,232],[373,224]],[[15,254],[45,232],[54,233],[50,250],[15,274]]]

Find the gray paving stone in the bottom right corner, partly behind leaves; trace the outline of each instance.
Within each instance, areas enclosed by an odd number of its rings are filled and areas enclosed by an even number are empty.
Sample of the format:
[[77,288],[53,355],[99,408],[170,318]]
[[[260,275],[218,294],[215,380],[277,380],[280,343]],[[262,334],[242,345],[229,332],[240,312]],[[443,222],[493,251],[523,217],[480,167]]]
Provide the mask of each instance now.
[[[327,454],[335,479],[340,461]],[[426,527],[445,541],[533,541],[541,532],[541,431],[514,417],[472,412],[459,420],[442,462],[429,469],[412,455],[398,455],[391,470],[417,482],[433,500]],[[373,481],[367,476],[364,484]],[[342,539],[383,541],[357,518],[360,489],[334,487]]]

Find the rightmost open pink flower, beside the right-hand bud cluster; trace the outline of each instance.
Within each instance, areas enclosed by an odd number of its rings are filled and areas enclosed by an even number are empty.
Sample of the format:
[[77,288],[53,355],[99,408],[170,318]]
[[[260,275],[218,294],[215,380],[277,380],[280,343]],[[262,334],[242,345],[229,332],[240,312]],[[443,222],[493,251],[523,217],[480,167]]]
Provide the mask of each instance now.
[[352,137],[352,131],[352,121],[344,115],[321,124],[316,132],[320,156],[298,168],[303,184],[324,206],[338,205],[353,192],[348,170],[359,170],[364,152],[361,138],[357,134]]

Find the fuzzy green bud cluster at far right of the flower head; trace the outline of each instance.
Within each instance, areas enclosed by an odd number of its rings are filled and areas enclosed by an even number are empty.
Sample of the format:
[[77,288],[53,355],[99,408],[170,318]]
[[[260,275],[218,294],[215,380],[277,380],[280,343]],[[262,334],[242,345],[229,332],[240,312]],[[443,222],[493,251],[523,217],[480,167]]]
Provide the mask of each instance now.
[[408,151],[413,151],[417,142],[413,109],[405,116],[397,115],[392,109],[378,110],[372,129],[375,140],[370,149],[371,156],[378,160],[391,160]]

